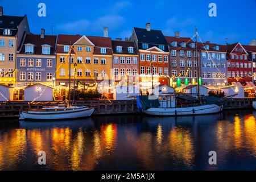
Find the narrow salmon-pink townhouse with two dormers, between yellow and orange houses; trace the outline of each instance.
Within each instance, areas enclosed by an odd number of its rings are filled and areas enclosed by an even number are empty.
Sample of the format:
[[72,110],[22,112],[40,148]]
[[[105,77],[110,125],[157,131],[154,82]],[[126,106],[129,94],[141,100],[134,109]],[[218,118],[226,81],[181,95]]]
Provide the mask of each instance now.
[[134,42],[112,40],[114,82],[138,84],[138,51]]

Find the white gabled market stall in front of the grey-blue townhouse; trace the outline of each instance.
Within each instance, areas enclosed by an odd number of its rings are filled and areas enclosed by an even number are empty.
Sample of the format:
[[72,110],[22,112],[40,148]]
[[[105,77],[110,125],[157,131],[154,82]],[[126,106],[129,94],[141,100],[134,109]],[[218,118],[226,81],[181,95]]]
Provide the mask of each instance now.
[[24,89],[24,101],[53,101],[53,88],[34,84]]

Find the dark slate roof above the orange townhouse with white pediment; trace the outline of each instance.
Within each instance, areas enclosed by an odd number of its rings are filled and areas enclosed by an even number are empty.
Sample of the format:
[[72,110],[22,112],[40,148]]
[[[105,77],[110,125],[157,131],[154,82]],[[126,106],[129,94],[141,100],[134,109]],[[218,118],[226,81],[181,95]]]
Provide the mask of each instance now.
[[134,31],[137,36],[138,42],[168,45],[162,31],[160,30],[151,29],[150,31],[147,31],[146,28],[134,28]]

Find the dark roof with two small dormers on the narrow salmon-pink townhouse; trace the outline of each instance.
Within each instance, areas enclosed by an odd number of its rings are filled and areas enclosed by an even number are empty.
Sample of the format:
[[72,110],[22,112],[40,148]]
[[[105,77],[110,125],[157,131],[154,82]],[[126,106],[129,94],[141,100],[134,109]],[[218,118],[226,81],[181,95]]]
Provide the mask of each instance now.
[[[122,46],[122,52],[117,52],[116,47],[117,46]],[[128,47],[133,47],[133,53],[129,53],[128,52]],[[113,48],[113,53],[125,53],[125,54],[133,54],[133,55],[137,55],[137,49],[135,47],[135,43],[134,42],[130,42],[130,41],[118,41],[118,40],[112,40],[112,48]]]

